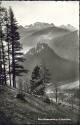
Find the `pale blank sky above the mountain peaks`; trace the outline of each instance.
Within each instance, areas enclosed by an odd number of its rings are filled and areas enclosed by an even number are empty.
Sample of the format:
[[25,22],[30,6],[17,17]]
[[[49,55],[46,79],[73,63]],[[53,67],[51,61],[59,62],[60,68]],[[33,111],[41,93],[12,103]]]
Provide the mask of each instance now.
[[79,29],[78,1],[4,1],[11,6],[20,25],[35,22],[54,23],[56,26],[71,24]]

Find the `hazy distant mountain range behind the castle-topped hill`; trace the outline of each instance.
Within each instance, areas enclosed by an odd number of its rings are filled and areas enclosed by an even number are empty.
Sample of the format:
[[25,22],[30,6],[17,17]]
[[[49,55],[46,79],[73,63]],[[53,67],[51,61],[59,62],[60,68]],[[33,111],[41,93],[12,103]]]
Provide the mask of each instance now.
[[19,26],[19,32],[25,52],[37,43],[47,43],[58,56],[78,61],[79,38],[77,30],[71,25],[56,27],[54,24],[36,22]]

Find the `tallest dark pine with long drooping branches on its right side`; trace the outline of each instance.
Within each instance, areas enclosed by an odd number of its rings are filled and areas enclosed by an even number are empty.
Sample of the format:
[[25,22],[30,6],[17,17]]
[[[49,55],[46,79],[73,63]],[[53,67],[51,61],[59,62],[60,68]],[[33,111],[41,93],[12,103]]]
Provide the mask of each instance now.
[[11,41],[11,57],[12,57],[12,81],[13,81],[13,87],[16,87],[16,76],[20,76],[22,72],[27,72],[24,70],[22,64],[20,62],[23,62],[23,53],[22,53],[22,46],[19,42],[20,36],[18,32],[18,25],[16,22],[16,19],[14,18],[14,13],[12,9],[9,9],[9,38]]

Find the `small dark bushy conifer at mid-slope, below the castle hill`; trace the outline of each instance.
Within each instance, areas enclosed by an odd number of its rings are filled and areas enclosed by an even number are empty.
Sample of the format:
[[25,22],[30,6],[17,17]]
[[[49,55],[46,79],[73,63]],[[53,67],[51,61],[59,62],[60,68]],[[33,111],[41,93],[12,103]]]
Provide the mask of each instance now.
[[31,85],[31,93],[36,95],[44,95],[45,86],[43,84],[40,74],[40,67],[38,65],[35,66],[32,72],[30,85]]

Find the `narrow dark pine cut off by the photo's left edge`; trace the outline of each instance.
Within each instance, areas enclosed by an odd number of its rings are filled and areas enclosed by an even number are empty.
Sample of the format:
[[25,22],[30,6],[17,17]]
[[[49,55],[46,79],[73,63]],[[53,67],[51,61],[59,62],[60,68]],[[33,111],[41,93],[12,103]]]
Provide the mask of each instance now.
[[2,84],[7,83],[6,78],[6,51],[4,46],[4,27],[5,27],[5,8],[1,7],[0,4],[0,63],[1,63],[1,80]]

